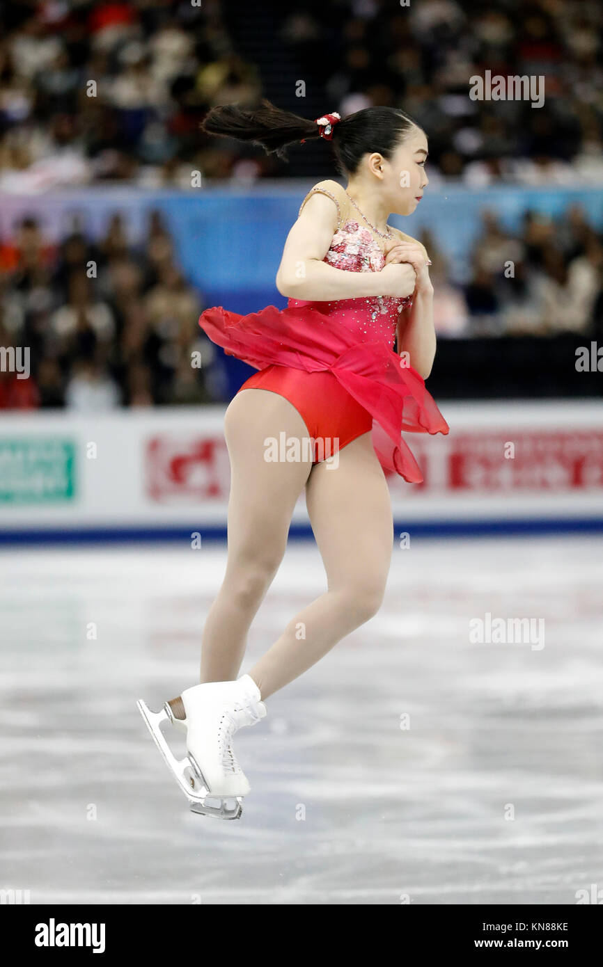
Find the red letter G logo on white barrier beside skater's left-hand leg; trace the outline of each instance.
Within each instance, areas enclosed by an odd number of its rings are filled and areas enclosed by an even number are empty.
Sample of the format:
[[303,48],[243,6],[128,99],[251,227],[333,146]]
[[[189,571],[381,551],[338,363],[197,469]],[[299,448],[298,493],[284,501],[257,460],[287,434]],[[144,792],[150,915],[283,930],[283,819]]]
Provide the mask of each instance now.
[[145,460],[146,492],[162,503],[198,503],[228,496],[228,456],[222,434],[216,437],[149,440]]

